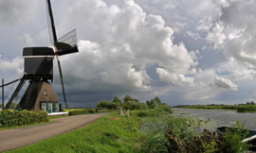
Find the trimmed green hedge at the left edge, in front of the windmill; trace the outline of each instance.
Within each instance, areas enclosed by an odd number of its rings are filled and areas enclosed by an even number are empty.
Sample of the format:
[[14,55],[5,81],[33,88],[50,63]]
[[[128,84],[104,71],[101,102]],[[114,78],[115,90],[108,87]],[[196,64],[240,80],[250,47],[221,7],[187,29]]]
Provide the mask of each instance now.
[[48,122],[45,110],[2,110],[0,111],[0,127],[15,127]]

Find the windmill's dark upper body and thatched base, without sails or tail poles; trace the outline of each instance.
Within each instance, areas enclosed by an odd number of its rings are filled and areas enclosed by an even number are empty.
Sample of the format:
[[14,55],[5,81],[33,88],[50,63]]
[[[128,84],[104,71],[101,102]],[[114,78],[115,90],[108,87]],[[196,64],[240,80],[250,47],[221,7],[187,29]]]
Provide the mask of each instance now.
[[48,80],[53,79],[54,51],[49,47],[24,48],[24,78],[29,85],[17,110],[47,110],[49,113],[62,110],[60,98]]

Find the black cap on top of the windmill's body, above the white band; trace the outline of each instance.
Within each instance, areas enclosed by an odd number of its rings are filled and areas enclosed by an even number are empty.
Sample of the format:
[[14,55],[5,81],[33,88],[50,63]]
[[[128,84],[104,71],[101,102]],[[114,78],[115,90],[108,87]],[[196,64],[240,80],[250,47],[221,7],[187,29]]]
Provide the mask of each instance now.
[[27,56],[55,56],[50,47],[26,47],[23,49],[23,57]]

